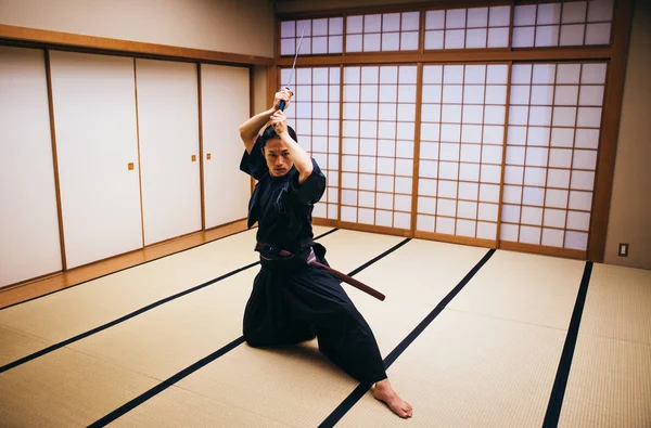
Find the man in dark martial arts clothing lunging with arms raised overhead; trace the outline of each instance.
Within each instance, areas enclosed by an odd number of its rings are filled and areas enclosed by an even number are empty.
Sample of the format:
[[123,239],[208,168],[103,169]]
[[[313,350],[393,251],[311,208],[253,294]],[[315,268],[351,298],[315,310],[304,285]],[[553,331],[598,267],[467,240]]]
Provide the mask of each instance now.
[[[252,347],[293,345],[318,338],[319,350],[400,417],[412,408],[393,390],[371,328],[339,280],[308,265],[326,248],[312,241],[311,212],[326,190],[326,176],[298,145],[279,106],[291,91],[276,94],[273,107],[240,127],[246,152],[240,169],[258,180],[248,204],[248,228],[258,222],[260,272],[244,312],[244,338]],[[266,124],[270,124],[260,134]],[[314,252],[312,252],[314,251]]]

